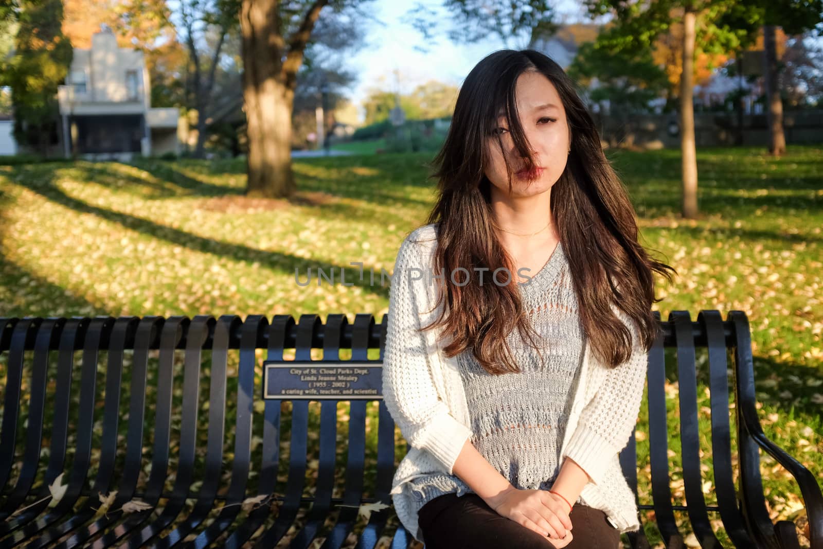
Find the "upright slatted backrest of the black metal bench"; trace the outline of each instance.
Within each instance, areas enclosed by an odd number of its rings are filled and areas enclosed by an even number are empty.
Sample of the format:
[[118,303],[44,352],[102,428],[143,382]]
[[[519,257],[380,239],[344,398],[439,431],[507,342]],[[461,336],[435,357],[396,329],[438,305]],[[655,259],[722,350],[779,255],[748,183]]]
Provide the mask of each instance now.
[[[323,528],[324,515],[342,504],[337,526],[324,535],[345,539],[358,505],[391,503],[388,491],[402,457],[395,451],[395,427],[379,387],[374,395],[362,391],[360,398],[335,397],[332,391],[322,399],[263,400],[268,375],[261,361],[312,361],[322,349],[316,364],[329,369],[346,367],[349,356],[378,367],[387,318],[384,315],[381,323],[370,314],[357,314],[354,323],[340,314],[328,315],[326,323],[314,314],[297,322],[289,315],[277,315],[271,322],[260,315],[245,320],[230,315],[0,319],[0,373],[5,378],[2,509],[23,505],[35,479],[42,481],[37,494],[48,494],[47,486],[65,470],[68,488],[63,497],[69,500],[117,490],[120,502],[139,498],[156,505],[161,498],[188,497],[204,509],[218,502],[233,505],[237,515],[249,496],[277,492],[266,500],[280,507],[281,526],[272,527],[278,530],[272,539],[286,532],[301,500],[313,496],[300,537],[314,537]],[[635,492],[638,471],[646,474],[649,467],[651,500],[641,494],[639,508],[653,509],[667,545],[681,540],[675,511],[687,509],[701,540],[717,541],[709,512],[718,511],[737,547],[766,546],[774,542],[774,527],[765,508],[753,438],[762,431],[746,315],[733,311],[723,320],[717,311],[707,310],[692,320],[687,312],[677,311],[660,324],[663,336],[649,355],[648,440],[635,440],[633,434],[621,452],[625,477]],[[700,388],[708,388],[710,412],[700,407]],[[669,429],[667,401],[672,398],[679,407],[679,433]],[[340,402],[348,406],[344,409]],[[319,414],[312,413],[316,406]],[[730,406],[737,419],[734,430]],[[709,442],[700,430],[704,422]],[[338,440],[341,425],[346,427],[345,441]],[[672,448],[680,463],[675,480],[675,460],[669,455],[672,435],[681,443]],[[716,504],[705,500],[701,449],[711,454]],[[70,454],[73,463],[67,469]],[[91,486],[90,469],[95,472]],[[685,507],[673,503],[681,493]],[[16,519],[33,520],[45,505],[47,501]],[[244,513],[248,510],[247,505]],[[270,516],[268,507],[258,507],[243,515],[242,528],[231,526],[237,519],[232,516],[201,537],[213,541],[231,533],[227,547],[239,547]],[[371,515],[367,528],[375,540],[388,517],[386,512]],[[642,529],[631,538],[633,545],[643,547]]]

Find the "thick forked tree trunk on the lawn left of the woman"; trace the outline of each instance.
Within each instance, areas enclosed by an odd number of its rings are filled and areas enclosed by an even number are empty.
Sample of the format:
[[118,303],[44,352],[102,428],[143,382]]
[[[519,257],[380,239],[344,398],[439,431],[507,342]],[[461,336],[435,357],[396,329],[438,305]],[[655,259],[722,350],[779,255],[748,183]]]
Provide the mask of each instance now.
[[[297,74],[323,10],[365,7],[356,0],[237,0],[243,51],[243,95],[249,144],[247,196],[285,198],[291,172],[291,114]],[[357,12],[362,21],[369,14]]]

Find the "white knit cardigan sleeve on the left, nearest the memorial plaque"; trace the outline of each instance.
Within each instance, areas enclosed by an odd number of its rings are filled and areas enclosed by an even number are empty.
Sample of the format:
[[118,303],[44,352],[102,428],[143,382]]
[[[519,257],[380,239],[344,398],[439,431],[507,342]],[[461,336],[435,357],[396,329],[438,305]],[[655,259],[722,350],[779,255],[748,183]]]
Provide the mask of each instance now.
[[439,399],[430,371],[429,347],[424,333],[417,332],[424,302],[421,298],[429,283],[420,254],[417,244],[407,238],[394,262],[386,321],[383,399],[407,442],[430,452],[451,475],[472,430]]

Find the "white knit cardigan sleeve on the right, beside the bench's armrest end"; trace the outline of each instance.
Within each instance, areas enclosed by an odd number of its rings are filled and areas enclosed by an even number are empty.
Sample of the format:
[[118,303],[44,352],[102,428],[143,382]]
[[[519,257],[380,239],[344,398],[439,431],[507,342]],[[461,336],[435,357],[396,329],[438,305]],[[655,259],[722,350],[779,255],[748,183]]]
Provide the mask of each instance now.
[[608,368],[597,392],[580,414],[564,454],[577,463],[595,484],[603,479],[611,457],[629,442],[643,398],[649,352],[639,344],[635,323],[616,311],[632,337],[629,360]]

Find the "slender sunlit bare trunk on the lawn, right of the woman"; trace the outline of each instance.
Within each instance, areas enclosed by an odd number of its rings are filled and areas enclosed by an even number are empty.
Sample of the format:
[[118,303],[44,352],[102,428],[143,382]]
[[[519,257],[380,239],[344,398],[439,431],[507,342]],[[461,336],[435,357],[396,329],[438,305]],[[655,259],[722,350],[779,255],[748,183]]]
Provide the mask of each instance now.
[[680,76],[680,149],[683,177],[683,217],[697,217],[697,151],[695,149],[695,12],[683,15],[683,72]]

